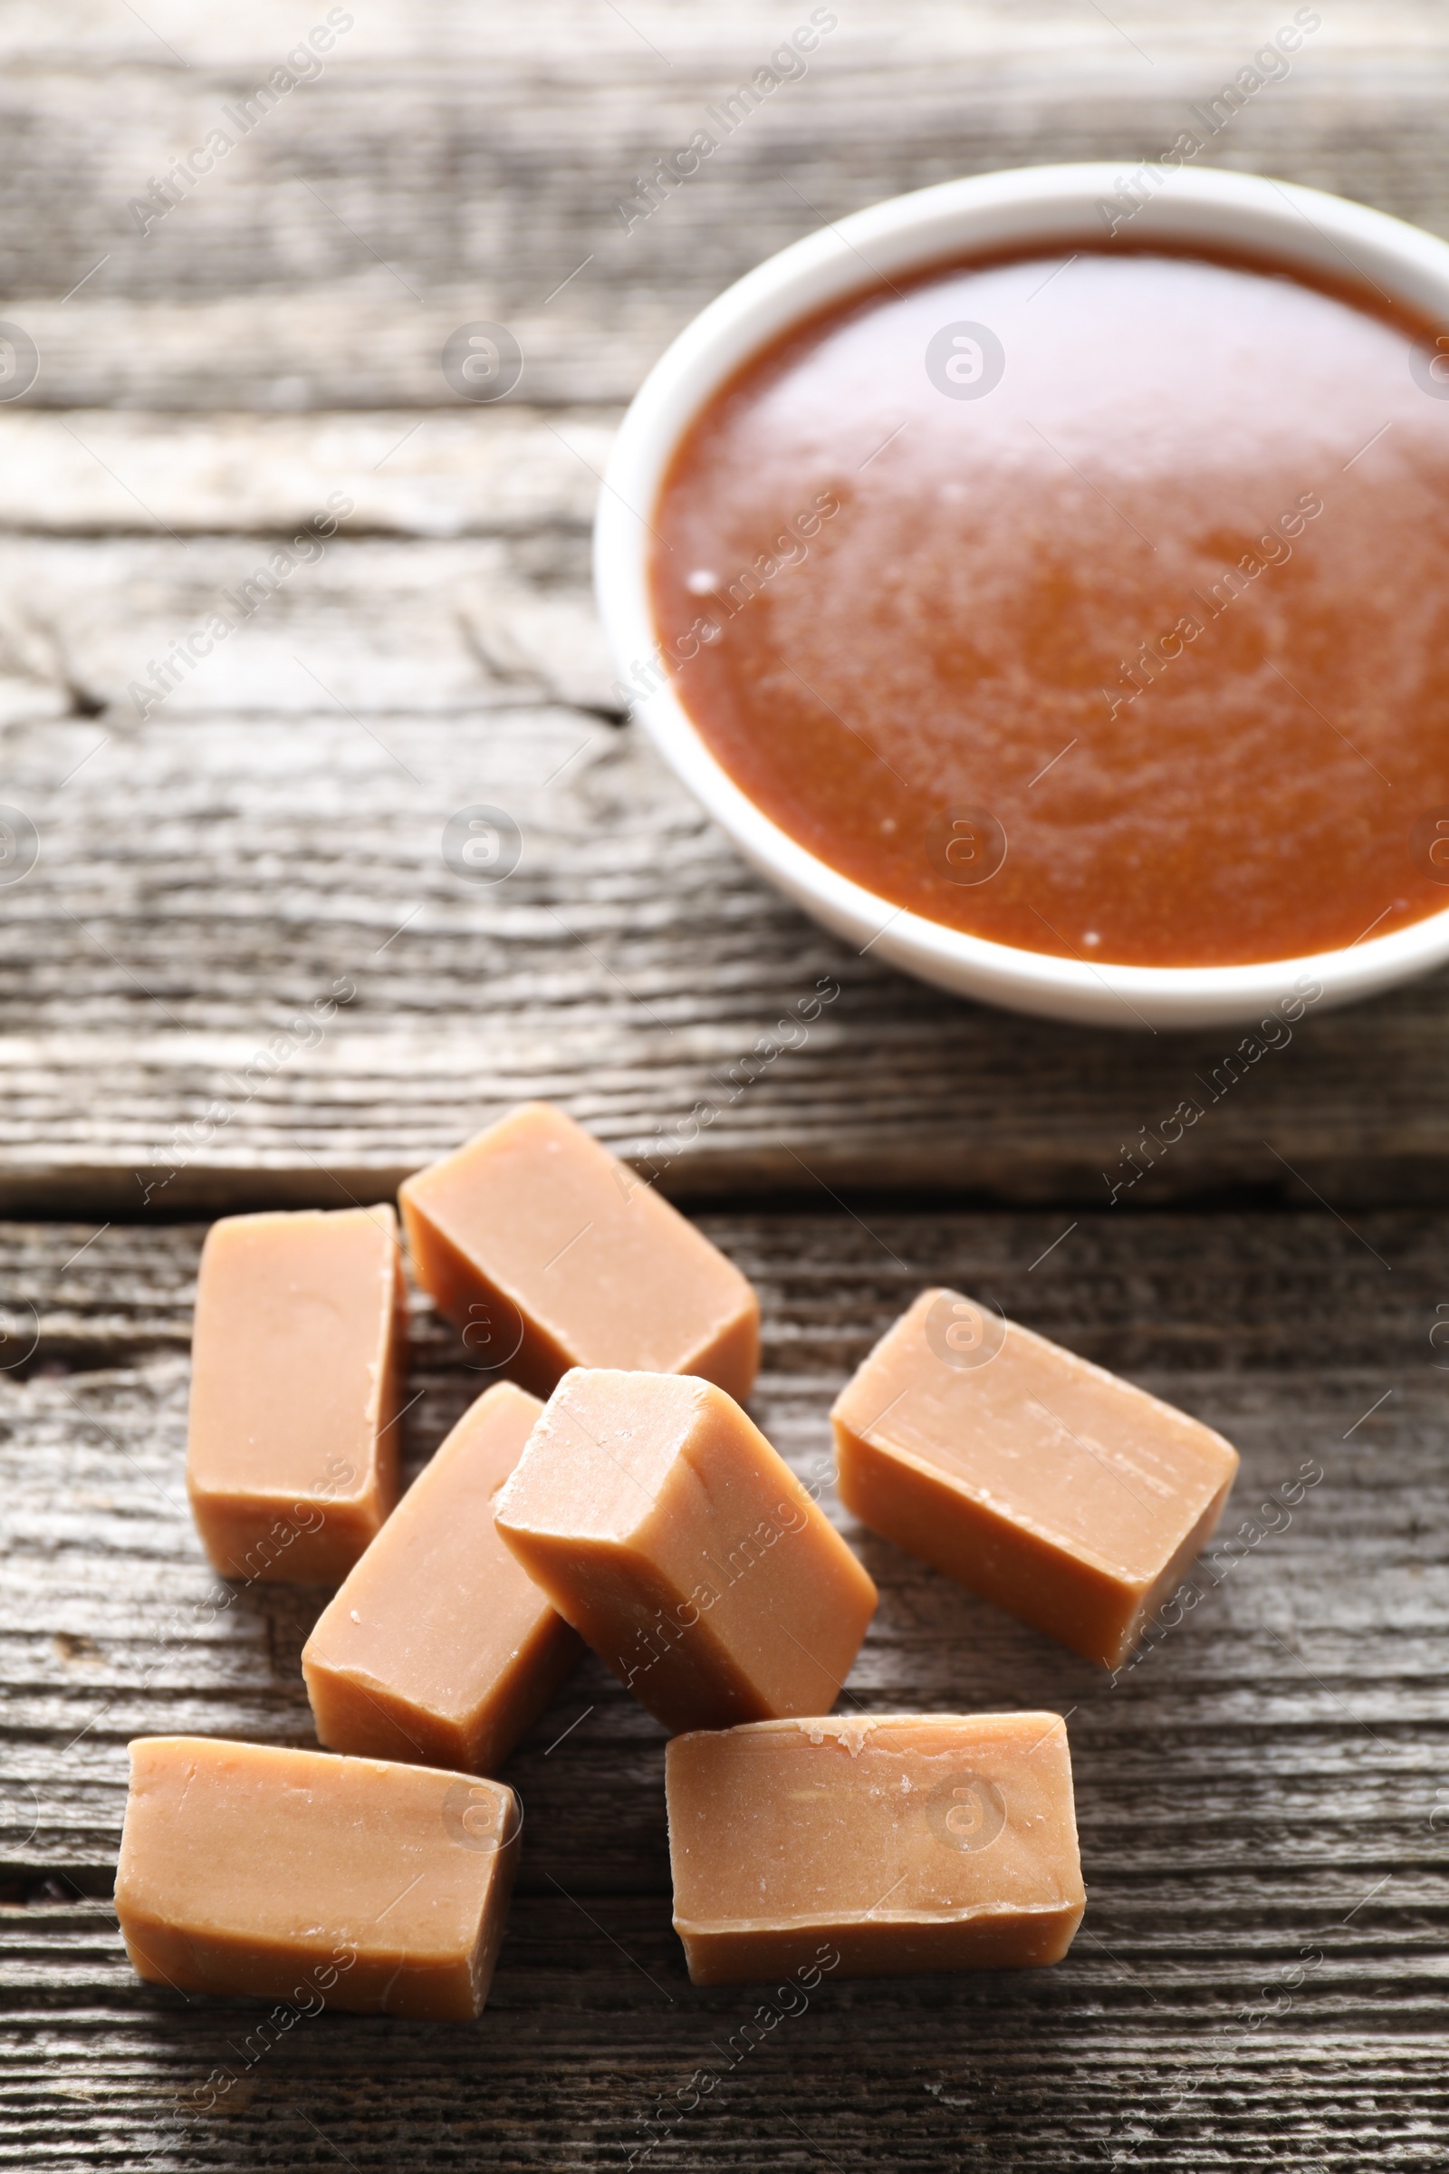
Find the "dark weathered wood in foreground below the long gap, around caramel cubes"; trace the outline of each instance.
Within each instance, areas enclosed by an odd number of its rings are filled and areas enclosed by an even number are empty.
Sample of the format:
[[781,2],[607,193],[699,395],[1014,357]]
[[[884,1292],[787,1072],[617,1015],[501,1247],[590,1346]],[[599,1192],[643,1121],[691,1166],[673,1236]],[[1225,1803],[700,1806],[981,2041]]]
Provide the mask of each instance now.
[[[324,1594],[217,1587],[189,1528],[202,1233],[4,1226],[39,1330],[0,1378],[20,2163],[563,2170],[654,2144],[652,2165],[741,2170],[1442,2165],[1449,1222],[1364,1217],[1382,1261],[1323,1215],[1080,1217],[1045,1259],[1060,1215],[704,1226],[760,1287],[754,1409],[802,1476],[830,1470],[847,1370],[945,1278],[1225,1428],[1230,1528],[1282,1526],[1199,1567],[1199,1607],[1112,1685],[843,1520],[882,1589],[852,1707],[1069,1713],[1091,1894],[1069,1961],[826,1981],[741,2054],[769,1989],[689,1987],[663,1733],[589,1661],[508,1767],[524,1872],[476,2028],[324,2013],[263,2050],[263,2011],[137,1985],[106,1904],[126,1737],[311,1741],[298,1652]],[[461,1357],[417,1302],[413,1463],[478,1387]],[[1288,1524],[1264,1517],[1295,1476]],[[717,2083],[684,2111],[697,2070]]]

